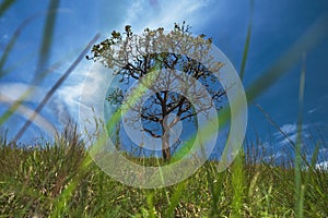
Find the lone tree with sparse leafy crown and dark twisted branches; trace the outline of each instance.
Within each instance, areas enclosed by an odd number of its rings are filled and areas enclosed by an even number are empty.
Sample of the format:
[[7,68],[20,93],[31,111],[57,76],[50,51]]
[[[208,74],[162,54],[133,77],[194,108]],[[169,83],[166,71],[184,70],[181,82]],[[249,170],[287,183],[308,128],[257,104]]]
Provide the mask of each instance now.
[[[169,130],[176,123],[192,121],[197,114],[206,113],[213,106],[220,109],[225,92],[220,88],[213,72],[219,71],[223,63],[213,61],[211,44],[212,39],[203,34],[192,36],[190,26],[185,22],[175,24],[169,33],[164,33],[162,27],[153,31],[145,28],[139,36],[127,25],[122,34],[114,31],[109,38],[94,45],[93,57],[86,57],[115,69],[115,75],[120,76],[119,83],[122,85],[107,99],[139,112],[142,131],[162,140],[165,160],[172,156]],[[153,92],[145,102],[125,101],[131,95],[126,86],[136,81]],[[197,82],[204,88],[199,88]],[[203,100],[207,94],[211,96],[210,104]],[[192,96],[192,100],[188,96]],[[199,107],[196,108],[195,104]],[[174,119],[169,119],[171,114],[175,114]],[[130,119],[131,124],[137,120]]]

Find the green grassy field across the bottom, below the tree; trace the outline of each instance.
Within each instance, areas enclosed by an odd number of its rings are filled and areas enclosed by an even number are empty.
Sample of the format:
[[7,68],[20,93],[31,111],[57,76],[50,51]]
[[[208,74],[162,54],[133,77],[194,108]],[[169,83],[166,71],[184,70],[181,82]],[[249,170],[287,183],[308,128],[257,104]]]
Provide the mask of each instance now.
[[24,148],[2,137],[0,217],[297,217],[298,203],[304,217],[328,216],[328,171],[301,169],[300,196],[293,168],[243,154],[224,172],[208,161],[179,184],[142,190],[98,169],[74,129]]

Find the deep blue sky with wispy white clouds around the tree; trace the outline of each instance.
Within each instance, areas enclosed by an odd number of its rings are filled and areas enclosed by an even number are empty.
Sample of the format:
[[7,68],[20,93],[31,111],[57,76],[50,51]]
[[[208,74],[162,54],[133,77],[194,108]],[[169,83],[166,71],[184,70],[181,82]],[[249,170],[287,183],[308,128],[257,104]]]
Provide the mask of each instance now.
[[[28,20],[28,23],[21,28],[16,44],[2,69],[5,75],[0,77],[0,114],[3,114],[10,104],[24,90],[33,86],[32,80],[37,69],[48,4],[49,1],[40,3],[37,0],[21,0],[0,17],[1,56],[19,26]],[[23,108],[21,111],[25,111],[27,116],[28,109],[36,107],[45,93],[67,71],[97,33],[101,34],[98,39],[101,41],[114,29],[124,31],[127,24],[131,25],[136,33],[140,33],[145,27],[162,26],[171,29],[175,22],[186,21],[191,25],[194,34],[206,34],[212,37],[213,44],[225,53],[239,72],[247,27],[253,17],[249,53],[243,81],[244,87],[247,88],[302,35],[307,33],[312,25],[325,14],[327,15],[328,2],[326,0],[255,0],[251,13],[250,1],[247,0],[73,0],[61,1],[57,11],[50,58],[46,63],[46,68],[50,69],[51,73],[24,101],[22,107],[25,107],[25,110]],[[327,23],[327,19],[325,21]],[[327,33],[328,23],[327,28],[324,28],[321,31]],[[323,137],[326,142],[328,135],[327,50],[326,34],[326,37],[311,50],[300,51],[306,52],[302,111],[304,135],[308,135],[308,138],[314,135]],[[99,73],[90,75],[92,68],[94,65],[91,61],[83,59],[80,62],[40,113],[49,122],[48,128],[37,129],[33,125],[23,136],[23,141],[33,142],[33,138],[39,135],[47,135],[48,132],[51,134],[51,128],[60,128],[69,118],[78,120],[79,108],[89,100],[99,98],[98,84],[106,75]],[[274,85],[253,102],[248,102],[246,140],[259,137],[262,146],[277,150],[278,156],[283,155],[281,148],[289,146],[288,142],[255,105],[259,105],[282,131],[295,140],[301,70],[300,60]],[[87,89],[87,95],[84,101],[81,101],[83,85],[84,89]],[[11,137],[24,121],[24,116],[17,113],[12,116],[2,128],[9,130],[8,135]],[[321,156],[326,155],[327,158],[327,145],[326,148],[325,145],[323,146]]]

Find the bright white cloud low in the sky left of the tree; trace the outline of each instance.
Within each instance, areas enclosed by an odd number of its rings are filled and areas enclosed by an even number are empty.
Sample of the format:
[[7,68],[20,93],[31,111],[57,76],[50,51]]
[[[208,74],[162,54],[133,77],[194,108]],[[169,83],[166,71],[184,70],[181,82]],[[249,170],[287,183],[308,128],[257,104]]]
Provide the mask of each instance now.
[[[90,61],[81,62],[44,107],[42,111],[44,117],[37,114],[34,123],[54,135],[55,130],[60,130],[60,125],[67,124],[70,119],[79,121],[81,107],[98,110],[104,105],[108,72],[104,72],[105,69],[101,70],[97,65]],[[58,69],[57,72],[63,69]],[[28,119],[34,111],[33,108],[40,102],[49,88],[25,83],[0,83],[0,106],[10,106],[25,92],[33,89],[16,111],[20,117]],[[90,113],[90,116],[92,114]]]

